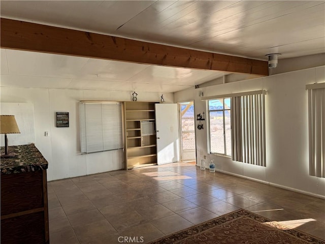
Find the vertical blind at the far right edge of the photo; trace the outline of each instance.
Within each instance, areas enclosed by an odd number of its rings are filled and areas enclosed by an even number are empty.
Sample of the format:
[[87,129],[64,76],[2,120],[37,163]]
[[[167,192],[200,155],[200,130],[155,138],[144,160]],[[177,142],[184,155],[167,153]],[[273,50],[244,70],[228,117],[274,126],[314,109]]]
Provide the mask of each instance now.
[[325,177],[325,83],[307,85],[309,174]]

